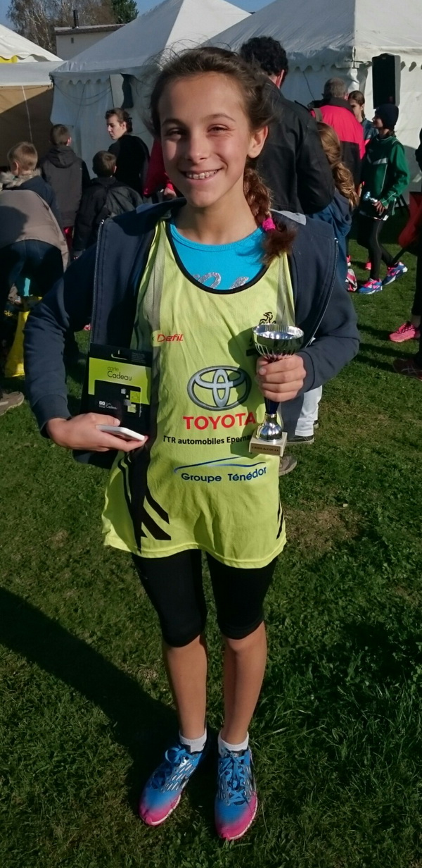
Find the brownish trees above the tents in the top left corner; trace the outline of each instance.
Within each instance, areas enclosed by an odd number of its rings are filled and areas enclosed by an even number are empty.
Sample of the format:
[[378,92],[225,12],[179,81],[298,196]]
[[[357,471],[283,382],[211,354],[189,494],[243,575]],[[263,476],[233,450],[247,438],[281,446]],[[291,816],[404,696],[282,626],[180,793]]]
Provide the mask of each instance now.
[[7,16],[17,33],[55,54],[55,27],[72,27],[77,6],[80,24],[111,24],[111,0],[11,0]]

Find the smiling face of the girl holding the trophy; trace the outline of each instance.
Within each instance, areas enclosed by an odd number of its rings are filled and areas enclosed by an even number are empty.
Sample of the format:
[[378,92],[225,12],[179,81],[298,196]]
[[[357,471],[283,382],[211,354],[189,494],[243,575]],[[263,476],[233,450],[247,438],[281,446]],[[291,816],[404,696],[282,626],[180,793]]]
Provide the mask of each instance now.
[[267,128],[250,131],[236,82],[214,72],[176,80],[161,96],[159,120],[166,172],[189,205],[243,196],[245,162],[260,154]]

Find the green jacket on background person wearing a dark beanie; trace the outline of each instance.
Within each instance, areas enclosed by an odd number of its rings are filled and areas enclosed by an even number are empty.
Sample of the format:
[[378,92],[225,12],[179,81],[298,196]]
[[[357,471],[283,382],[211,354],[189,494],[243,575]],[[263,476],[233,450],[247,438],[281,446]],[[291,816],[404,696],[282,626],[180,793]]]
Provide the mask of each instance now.
[[[393,214],[395,201],[410,182],[405,148],[394,134],[385,139],[376,135],[369,141],[362,162],[361,180],[365,185],[364,194],[369,191],[373,199],[386,207],[387,214]],[[370,217],[375,216],[373,205],[363,199],[360,201],[360,211]]]

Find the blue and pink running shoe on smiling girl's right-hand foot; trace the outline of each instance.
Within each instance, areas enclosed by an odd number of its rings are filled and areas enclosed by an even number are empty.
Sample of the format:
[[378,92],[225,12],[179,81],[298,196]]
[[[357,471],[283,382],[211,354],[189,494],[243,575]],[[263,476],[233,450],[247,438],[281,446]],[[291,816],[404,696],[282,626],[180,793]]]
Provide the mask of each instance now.
[[215,819],[217,834],[226,841],[242,838],[255,819],[258,799],[252,754],[224,751],[218,757]]

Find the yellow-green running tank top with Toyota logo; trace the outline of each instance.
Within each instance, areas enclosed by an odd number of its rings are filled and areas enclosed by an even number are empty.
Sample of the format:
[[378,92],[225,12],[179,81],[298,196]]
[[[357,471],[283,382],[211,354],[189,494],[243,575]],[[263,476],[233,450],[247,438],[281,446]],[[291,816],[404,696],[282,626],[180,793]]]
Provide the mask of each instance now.
[[184,273],[159,224],[133,329],[134,347],[153,347],[151,437],[114,462],[107,545],[144,557],[202,549],[239,568],[280,553],[278,458],[248,450],[265,409],[251,329],[277,320],[294,325],[287,255],[218,293]]

